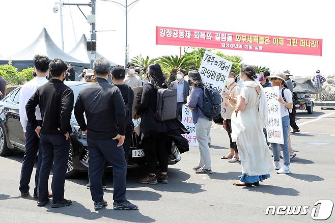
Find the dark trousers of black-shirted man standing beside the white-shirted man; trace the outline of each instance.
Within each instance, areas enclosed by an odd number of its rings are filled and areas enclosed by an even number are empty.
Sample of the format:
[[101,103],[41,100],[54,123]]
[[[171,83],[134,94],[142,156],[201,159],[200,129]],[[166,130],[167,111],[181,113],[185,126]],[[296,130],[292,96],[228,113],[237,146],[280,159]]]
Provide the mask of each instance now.
[[69,159],[70,139],[62,134],[41,134],[42,164],[38,182],[38,201],[48,198],[48,180],[53,162],[52,203],[64,199],[66,166]]

